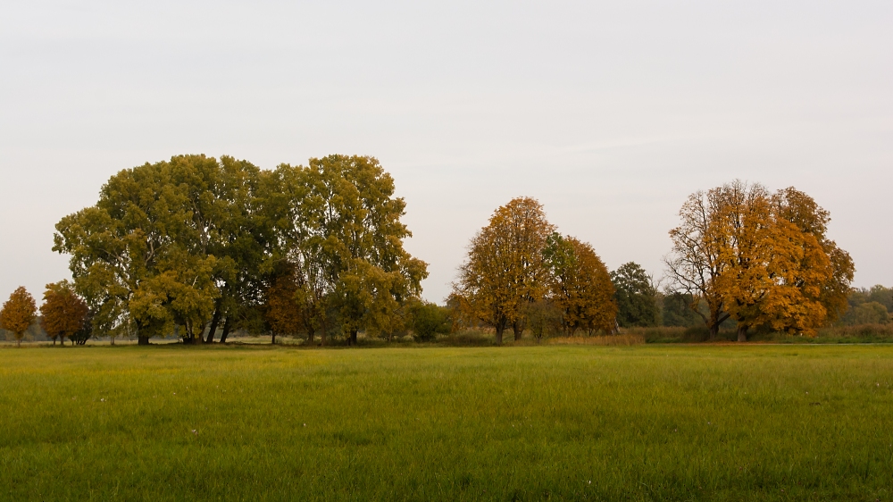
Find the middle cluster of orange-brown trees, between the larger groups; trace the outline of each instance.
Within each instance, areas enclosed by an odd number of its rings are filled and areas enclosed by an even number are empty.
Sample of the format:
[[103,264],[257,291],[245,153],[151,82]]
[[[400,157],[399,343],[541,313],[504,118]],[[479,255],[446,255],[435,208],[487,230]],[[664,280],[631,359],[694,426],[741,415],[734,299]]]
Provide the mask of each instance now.
[[613,331],[617,306],[605,264],[588,243],[555,231],[530,197],[500,206],[472,238],[448,299],[456,322],[549,332]]

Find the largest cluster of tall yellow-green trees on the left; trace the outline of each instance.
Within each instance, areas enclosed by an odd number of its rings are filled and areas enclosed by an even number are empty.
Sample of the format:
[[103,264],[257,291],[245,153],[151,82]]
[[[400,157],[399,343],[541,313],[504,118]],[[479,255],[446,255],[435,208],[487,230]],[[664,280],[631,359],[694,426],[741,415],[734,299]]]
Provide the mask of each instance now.
[[[180,155],[121,171],[56,224],[96,335],[220,331],[356,341],[404,327],[427,264],[403,247],[405,202],[366,156],[261,170]],[[274,339],[275,341],[275,339]]]

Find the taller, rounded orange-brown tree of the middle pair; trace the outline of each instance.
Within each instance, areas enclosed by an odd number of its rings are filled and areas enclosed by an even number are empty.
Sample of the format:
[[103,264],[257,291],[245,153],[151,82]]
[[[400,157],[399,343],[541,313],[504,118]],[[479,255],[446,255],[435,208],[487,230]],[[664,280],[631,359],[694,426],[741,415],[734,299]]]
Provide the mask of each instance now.
[[499,344],[508,326],[521,339],[524,308],[546,295],[543,249],[554,230],[536,199],[518,197],[497,208],[472,238],[453,292],[470,313],[496,329]]

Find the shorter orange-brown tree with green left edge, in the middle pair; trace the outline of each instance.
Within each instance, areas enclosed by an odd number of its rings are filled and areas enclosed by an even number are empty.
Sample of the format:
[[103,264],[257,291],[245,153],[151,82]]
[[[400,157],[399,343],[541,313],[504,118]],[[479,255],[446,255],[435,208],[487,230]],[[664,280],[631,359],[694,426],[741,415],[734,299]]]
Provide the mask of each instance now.
[[550,272],[548,299],[561,312],[564,330],[612,332],[617,305],[611,276],[592,246],[554,232],[543,255]]

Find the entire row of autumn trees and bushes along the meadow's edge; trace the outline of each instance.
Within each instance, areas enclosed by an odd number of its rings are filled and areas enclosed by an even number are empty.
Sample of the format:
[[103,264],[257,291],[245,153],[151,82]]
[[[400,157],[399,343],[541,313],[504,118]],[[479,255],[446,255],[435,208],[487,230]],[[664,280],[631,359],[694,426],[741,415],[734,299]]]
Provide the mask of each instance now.
[[[703,326],[814,336],[889,322],[890,289],[851,289],[855,265],[826,237],[830,214],[795,188],[733,181],[693,193],[670,230],[658,287],[635,263],[609,272],[595,247],[517,197],[472,238],[445,305],[421,299],[427,264],[405,251],[405,202],[367,156],[262,170],[179,155],[115,174],[96,205],[57,223],[73,280],[24,288],[0,311],[14,339],[178,336],[239,330],[326,344],[358,333],[430,340],[488,327],[536,339]],[[40,330],[33,327],[40,324]],[[43,331],[41,331],[43,330]]]

